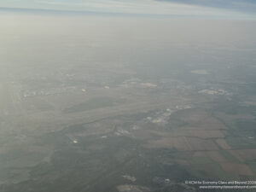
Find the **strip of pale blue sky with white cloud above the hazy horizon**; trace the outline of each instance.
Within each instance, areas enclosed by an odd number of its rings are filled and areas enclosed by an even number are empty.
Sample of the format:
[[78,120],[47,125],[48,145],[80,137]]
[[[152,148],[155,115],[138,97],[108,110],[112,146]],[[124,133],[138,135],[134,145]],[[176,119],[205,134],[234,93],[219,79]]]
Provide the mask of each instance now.
[[256,20],[256,0],[1,0],[0,7]]

